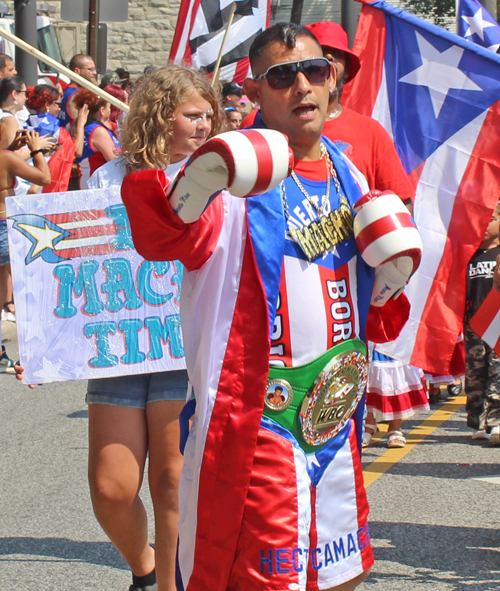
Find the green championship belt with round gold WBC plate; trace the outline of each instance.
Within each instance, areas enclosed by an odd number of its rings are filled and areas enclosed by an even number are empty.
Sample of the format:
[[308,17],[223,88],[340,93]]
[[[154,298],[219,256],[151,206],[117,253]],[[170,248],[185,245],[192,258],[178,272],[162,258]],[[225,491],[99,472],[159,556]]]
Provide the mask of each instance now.
[[313,453],[354,414],[368,375],[366,345],[352,339],[298,367],[271,367],[264,416],[285,427]]

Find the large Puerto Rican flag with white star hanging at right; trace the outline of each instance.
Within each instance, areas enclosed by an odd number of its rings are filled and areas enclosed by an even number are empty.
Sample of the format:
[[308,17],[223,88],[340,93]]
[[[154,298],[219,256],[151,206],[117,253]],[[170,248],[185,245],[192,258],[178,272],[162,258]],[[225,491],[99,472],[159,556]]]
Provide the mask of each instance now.
[[344,103],[378,119],[417,187],[422,264],[411,316],[386,354],[446,374],[462,331],[467,263],[500,196],[500,56],[382,2],[366,2]]

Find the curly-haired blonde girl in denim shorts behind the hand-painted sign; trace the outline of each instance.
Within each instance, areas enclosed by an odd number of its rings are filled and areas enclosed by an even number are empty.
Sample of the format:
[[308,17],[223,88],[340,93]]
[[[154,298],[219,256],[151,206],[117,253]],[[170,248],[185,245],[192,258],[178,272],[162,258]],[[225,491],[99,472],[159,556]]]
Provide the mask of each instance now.
[[[99,168],[90,188],[121,185],[126,167],[155,166],[173,176],[222,127],[218,97],[199,74],[167,66],[146,76],[123,129],[122,156]],[[178,416],[187,372],[89,380],[89,481],[96,517],[133,572],[130,591],[175,589],[179,453]],[[139,497],[149,452],[155,550]],[[156,564],[156,569],[155,569]]]

